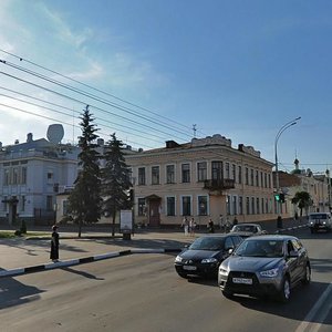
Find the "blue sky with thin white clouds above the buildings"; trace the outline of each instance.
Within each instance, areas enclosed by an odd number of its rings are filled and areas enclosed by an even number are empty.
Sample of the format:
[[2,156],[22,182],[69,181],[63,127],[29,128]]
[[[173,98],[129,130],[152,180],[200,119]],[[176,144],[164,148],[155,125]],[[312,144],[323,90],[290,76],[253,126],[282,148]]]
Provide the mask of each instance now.
[[75,142],[89,104],[106,141],[185,143],[196,124],[197,137],[221,134],[274,162],[278,131],[301,116],[278,141],[279,168],[297,156],[301,168],[331,169],[331,18],[329,0],[1,0],[0,141],[45,137],[61,121],[63,142]]

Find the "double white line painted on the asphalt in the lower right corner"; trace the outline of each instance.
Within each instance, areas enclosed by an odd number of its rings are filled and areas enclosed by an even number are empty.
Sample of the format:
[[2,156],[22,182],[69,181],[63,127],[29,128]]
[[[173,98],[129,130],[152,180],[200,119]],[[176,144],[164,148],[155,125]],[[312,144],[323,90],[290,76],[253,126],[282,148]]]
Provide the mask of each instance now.
[[[325,309],[320,312],[320,314],[318,317],[317,317],[317,314],[321,310],[322,304],[328,299],[331,291],[332,291],[332,283],[329,284],[329,287],[325,289],[325,291],[322,293],[322,295],[319,298],[319,300],[315,302],[315,304],[309,311],[309,313],[304,318],[303,322],[298,326],[295,332],[304,332],[307,328],[310,328],[310,330],[309,330],[310,332],[319,331],[321,323],[324,321],[324,319],[329,314],[329,311],[331,310],[332,304],[329,303],[325,307]],[[313,319],[315,317],[317,317],[317,322],[313,322]]]

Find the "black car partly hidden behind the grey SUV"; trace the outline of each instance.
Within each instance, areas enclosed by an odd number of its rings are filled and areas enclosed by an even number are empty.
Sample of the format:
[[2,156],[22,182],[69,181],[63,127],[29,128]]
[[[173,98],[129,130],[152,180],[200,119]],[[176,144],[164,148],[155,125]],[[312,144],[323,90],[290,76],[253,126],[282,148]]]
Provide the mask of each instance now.
[[183,277],[216,277],[220,262],[242,238],[236,234],[206,235],[197,238],[175,258],[175,270]]

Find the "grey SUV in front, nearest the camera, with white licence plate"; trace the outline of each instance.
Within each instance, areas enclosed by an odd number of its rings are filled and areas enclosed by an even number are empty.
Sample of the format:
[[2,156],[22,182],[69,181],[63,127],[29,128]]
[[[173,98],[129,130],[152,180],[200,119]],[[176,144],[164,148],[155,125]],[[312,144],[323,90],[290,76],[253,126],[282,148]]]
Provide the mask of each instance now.
[[225,297],[273,295],[287,302],[291,289],[310,283],[311,267],[301,241],[287,235],[263,235],[243,240],[219,267],[218,283]]

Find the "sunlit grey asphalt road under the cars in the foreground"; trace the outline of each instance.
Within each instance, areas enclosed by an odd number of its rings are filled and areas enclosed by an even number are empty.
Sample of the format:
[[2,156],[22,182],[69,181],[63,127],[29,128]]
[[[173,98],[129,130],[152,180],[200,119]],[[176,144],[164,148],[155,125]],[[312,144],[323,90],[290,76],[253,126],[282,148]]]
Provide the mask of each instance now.
[[1,331],[320,331],[332,329],[332,235],[299,237],[312,283],[291,302],[228,300],[214,280],[187,281],[174,253],[133,255],[0,279]]

